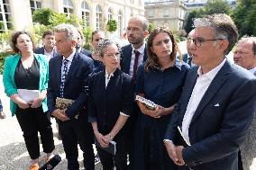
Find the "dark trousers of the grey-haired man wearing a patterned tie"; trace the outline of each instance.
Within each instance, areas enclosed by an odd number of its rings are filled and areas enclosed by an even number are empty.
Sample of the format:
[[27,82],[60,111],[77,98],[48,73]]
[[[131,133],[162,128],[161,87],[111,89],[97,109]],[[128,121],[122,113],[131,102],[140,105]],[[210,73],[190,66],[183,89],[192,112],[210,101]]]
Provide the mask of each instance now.
[[95,169],[95,155],[93,149],[93,130],[86,119],[71,119],[58,121],[64,151],[68,159],[68,169],[78,170],[78,144],[83,151],[84,167],[86,170]]

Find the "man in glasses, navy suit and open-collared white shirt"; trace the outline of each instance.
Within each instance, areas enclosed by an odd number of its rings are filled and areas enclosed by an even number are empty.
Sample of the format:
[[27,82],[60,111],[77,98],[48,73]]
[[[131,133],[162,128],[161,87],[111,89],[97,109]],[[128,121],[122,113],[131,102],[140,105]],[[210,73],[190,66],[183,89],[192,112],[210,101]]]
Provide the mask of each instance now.
[[225,58],[238,37],[228,15],[199,18],[194,26],[190,48],[198,67],[187,73],[164,144],[178,169],[237,170],[255,110],[256,78]]

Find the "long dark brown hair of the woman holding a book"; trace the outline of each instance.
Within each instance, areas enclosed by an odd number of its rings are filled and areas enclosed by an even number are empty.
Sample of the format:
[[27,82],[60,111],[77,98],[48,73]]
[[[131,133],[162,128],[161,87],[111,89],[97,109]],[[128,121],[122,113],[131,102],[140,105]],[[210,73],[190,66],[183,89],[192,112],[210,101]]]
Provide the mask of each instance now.
[[[160,33],[160,32],[164,32],[167,33],[169,35],[169,38],[172,42],[172,52],[169,55],[169,58],[171,58],[172,61],[175,60],[176,58],[176,54],[177,52],[179,53],[179,57],[181,55],[179,49],[178,49],[178,44],[176,42],[176,40],[174,39],[174,36],[172,34],[171,31],[169,31],[167,28],[164,27],[158,27],[155,28],[153,31],[151,31],[151,34],[148,38],[148,42],[147,42],[147,54],[148,54],[148,59],[145,63],[144,69],[145,71],[149,71],[151,68],[157,68],[160,69],[160,63],[159,63],[159,58],[152,52],[151,47],[152,47],[152,42],[154,40],[154,38]],[[182,59],[182,57],[180,57]]]

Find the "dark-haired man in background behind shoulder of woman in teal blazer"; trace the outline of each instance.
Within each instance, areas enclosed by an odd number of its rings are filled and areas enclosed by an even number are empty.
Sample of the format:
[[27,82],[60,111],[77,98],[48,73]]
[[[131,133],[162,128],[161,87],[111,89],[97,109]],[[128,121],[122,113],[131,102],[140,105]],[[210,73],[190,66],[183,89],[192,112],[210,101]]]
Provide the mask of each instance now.
[[55,56],[58,56],[58,52],[56,51],[55,47],[55,37],[53,31],[44,31],[42,34],[42,42],[43,47],[35,49],[34,53],[36,54],[44,54],[48,57],[48,60],[50,58],[54,58]]

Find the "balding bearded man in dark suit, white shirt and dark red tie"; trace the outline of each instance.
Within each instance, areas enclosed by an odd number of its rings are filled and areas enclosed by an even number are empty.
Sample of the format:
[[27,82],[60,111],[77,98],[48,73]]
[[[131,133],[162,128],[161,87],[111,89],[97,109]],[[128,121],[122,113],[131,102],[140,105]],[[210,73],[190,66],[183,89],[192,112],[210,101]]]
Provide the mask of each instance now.
[[137,68],[147,59],[145,37],[149,34],[148,27],[149,23],[144,16],[135,15],[129,20],[126,29],[130,44],[122,48],[120,65],[121,70],[133,76],[134,79],[136,78]]

